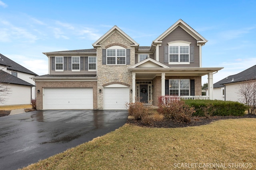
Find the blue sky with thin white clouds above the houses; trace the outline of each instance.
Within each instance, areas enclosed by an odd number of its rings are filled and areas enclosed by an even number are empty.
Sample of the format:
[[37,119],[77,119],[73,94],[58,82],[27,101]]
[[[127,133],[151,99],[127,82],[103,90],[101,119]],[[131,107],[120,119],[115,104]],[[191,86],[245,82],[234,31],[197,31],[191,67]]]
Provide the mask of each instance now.
[[224,67],[214,82],[256,64],[256,0],[0,0],[0,53],[43,75],[42,52],[91,49],[114,25],[150,46],[179,19],[208,40],[202,66]]

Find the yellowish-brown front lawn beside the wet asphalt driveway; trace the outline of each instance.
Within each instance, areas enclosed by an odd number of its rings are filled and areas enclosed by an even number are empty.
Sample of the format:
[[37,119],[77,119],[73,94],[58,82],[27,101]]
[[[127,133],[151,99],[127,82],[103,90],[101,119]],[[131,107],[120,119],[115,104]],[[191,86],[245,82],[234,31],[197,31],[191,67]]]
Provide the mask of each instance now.
[[255,169],[255,146],[256,119],[253,118],[174,129],[126,124],[23,170],[175,169],[178,163],[240,163],[250,164],[251,169]]

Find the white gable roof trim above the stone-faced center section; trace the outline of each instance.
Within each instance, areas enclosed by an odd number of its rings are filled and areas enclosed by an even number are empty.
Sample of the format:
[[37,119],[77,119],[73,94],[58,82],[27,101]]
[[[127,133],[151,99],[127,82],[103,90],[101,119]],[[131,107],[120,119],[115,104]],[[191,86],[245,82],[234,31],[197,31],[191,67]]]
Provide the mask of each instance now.
[[106,32],[104,35],[102,35],[102,37],[100,37],[100,39],[98,39],[95,43],[93,43],[92,45],[94,47],[96,46],[100,46],[100,44],[107,39],[108,37],[110,37],[114,32],[119,32],[120,35],[122,35],[122,37],[124,37],[127,41],[129,41],[131,43],[132,46],[138,46],[139,44],[134,41],[130,36],[128,36],[126,33],[124,33],[124,31],[122,31],[120,28],[118,28],[118,26],[114,26],[112,27],[108,32]]

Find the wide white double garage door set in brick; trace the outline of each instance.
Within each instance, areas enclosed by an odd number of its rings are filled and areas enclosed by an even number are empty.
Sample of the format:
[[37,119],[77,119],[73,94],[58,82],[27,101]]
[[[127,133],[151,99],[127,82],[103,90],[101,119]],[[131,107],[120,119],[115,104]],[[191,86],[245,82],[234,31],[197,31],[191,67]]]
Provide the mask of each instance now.
[[93,109],[92,88],[44,88],[43,109]]

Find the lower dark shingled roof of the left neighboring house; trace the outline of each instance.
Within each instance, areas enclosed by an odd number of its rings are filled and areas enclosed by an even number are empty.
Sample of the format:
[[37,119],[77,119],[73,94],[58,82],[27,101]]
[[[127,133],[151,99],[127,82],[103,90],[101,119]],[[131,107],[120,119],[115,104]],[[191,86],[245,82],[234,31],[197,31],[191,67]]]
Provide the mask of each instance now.
[[24,86],[34,86],[33,84],[30,84],[24,80],[21,80],[18,77],[15,77],[3,70],[0,70],[0,83],[10,83],[10,84],[18,84],[18,85],[24,85]]

